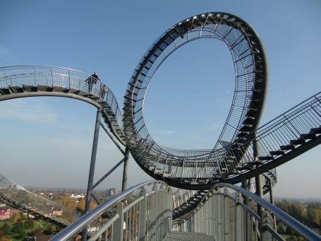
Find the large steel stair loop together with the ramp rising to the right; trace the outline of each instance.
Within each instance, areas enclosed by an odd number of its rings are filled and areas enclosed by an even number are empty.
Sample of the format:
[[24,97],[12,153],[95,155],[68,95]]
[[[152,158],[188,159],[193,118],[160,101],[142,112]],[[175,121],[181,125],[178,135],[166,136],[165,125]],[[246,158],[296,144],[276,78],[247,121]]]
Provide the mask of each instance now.
[[[143,104],[162,62],[192,40],[210,37],[229,47],[236,89],[226,124],[212,150],[159,146],[147,131]],[[260,37],[245,20],[229,13],[204,13],[177,23],[148,49],[133,72],[123,99],[123,132],[135,161],[148,175],[181,189],[206,190],[236,184],[291,160],[320,143],[320,94],[261,127],[268,73]],[[298,124],[300,122],[300,124]]]

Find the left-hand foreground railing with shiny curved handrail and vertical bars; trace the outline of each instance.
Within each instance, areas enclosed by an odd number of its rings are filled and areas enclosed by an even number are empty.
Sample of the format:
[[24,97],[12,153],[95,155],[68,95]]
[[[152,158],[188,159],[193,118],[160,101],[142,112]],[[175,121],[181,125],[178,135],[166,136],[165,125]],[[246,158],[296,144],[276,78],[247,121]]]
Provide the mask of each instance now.
[[[147,193],[148,188],[151,188],[149,193]],[[124,206],[122,201],[138,191],[140,192],[138,199]],[[112,218],[107,222],[101,221],[102,225],[97,227],[96,232],[90,233],[90,241],[102,238],[117,241],[162,240],[162,237],[171,230],[172,208],[171,188],[165,182],[143,182],[97,206],[50,240],[69,240],[87,225],[93,227],[91,223],[109,210],[112,210]]]

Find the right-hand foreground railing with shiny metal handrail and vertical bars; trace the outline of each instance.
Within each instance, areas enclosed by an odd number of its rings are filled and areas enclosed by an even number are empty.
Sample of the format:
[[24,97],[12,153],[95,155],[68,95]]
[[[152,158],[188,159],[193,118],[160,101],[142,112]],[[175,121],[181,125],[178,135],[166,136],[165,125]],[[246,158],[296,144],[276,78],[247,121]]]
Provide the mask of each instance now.
[[[233,191],[232,194],[230,190]],[[251,199],[253,203],[247,204],[246,199]],[[263,210],[256,212],[255,209],[260,206]],[[215,184],[195,211],[190,212],[183,220],[174,223],[173,229],[206,233],[214,236],[215,240],[284,240],[275,230],[272,217],[279,218],[307,240],[321,240],[320,235],[284,211],[232,184]]]

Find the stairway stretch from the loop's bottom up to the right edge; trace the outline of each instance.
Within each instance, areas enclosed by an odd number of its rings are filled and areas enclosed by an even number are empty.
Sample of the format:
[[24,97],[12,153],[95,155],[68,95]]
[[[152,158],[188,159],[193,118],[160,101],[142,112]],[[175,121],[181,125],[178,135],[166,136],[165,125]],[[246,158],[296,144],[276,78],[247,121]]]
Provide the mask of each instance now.
[[[186,189],[201,189],[198,184],[204,184],[202,189],[209,189],[212,184],[229,179],[230,183],[241,182],[241,175],[253,173],[256,167],[273,162],[271,170],[283,164],[284,160],[278,163],[280,158],[299,150],[300,146],[307,146],[305,143],[319,144],[320,127],[321,93],[317,93],[256,131],[210,153],[199,151],[194,157],[180,156],[178,150],[176,155],[171,155],[164,153],[153,141],[140,139],[132,155],[148,171],[174,181],[176,187],[190,185]],[[195,153],[197,151],[193,151]],[[296,155],[301,153],[296,152]],[[231,180],[234,177],[238,180]]]

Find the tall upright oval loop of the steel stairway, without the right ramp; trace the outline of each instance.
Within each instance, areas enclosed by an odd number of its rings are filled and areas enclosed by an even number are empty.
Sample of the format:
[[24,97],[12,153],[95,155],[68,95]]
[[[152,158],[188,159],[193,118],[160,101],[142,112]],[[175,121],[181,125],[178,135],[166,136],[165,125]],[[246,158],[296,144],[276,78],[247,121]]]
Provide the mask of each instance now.
[[[212,150],[186,151],[159,146],[147,131],[143,105],[147,87],[162,62],[193,40],[214,38],[226,43],[236,73],[234,98],[217,143]],[[174,187],[202,189],[219,172],[224,149],[254,131],[260,122],[267,94],[268,67],[260,37],[245,20],[229,13],[204,13],[177,23],[159,37],[136,67],[123,99],[123,131],[133,158],[149,175]],[[236,160],[235,163],[238,163]],[[217,165],[218,163],[218,165]],[[226,163],[229,172],[235,163]],[[178,169],[179,172],[178,172]],[[191,187],[193,184],[194,187]]]

